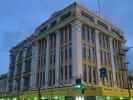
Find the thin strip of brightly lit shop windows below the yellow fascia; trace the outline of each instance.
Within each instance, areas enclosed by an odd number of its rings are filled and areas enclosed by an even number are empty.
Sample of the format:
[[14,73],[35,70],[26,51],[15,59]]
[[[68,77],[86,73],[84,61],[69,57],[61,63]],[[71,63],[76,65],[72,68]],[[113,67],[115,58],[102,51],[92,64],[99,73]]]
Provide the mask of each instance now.
[[51,97],[38,97],[28,98],[28,99],[18,99],[13,98],[1,98],[0,100],[133,100],[133,98],[128,97],[110,97],[110,96],[51,96]]

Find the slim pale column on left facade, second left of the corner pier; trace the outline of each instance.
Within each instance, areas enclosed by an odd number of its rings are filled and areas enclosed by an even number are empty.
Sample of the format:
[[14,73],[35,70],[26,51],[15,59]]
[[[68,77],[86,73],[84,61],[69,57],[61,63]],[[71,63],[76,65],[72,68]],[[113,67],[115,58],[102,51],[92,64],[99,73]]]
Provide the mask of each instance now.
[[46,69],[45,69],[45,88],[48,87],[48,66],[49,66],[49,36],[46,38],[47,47],[46,47]]

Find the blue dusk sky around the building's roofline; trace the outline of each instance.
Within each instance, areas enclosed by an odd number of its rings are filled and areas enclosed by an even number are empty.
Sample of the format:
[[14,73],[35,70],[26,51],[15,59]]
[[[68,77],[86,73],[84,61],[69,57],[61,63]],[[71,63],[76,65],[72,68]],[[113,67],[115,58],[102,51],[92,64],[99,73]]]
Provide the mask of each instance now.
[[[9,50],[30,36],[55,11],[76,0],[0,0],[0,74],[9,67]],[[89,10],[98,11],[97,0],[77,0]],[[121,28],[127,46],[133,46],[133,0],[100,0],[101,15]],[[128,52],[133,70],[133,50]]]

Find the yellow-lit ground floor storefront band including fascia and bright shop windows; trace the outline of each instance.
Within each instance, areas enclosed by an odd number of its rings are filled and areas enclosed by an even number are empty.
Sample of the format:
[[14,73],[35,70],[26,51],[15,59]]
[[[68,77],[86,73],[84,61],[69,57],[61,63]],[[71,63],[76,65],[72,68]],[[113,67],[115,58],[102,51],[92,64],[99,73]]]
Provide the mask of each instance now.
[[133,100],[133,90],[105,86],[49,88],[7,93],[0,95],[0,100]]

